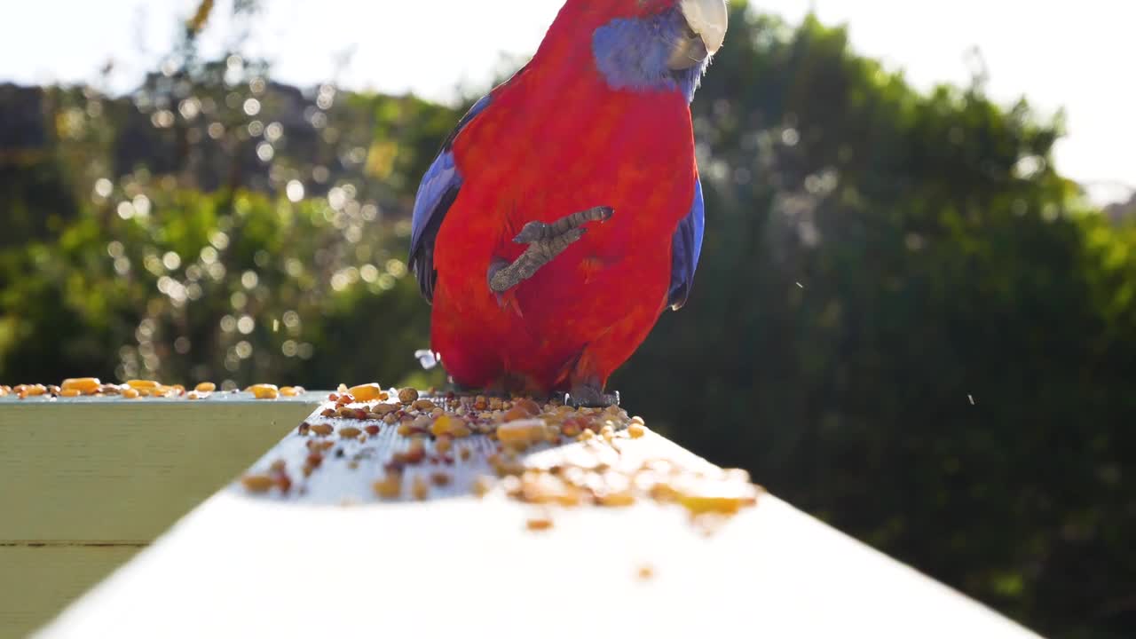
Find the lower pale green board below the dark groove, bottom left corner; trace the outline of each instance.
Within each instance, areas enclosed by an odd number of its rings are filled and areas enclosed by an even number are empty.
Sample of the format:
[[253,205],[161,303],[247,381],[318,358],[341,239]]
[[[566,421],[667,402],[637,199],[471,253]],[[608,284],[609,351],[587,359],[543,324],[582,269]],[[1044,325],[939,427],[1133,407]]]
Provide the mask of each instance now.
[[140,548],[0,547],[0,638],[26,637]]

